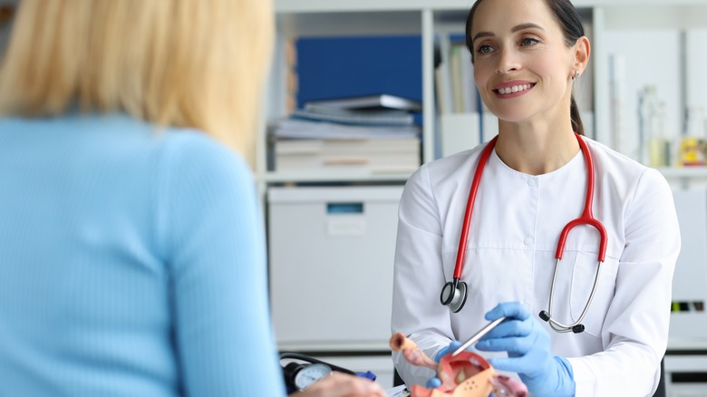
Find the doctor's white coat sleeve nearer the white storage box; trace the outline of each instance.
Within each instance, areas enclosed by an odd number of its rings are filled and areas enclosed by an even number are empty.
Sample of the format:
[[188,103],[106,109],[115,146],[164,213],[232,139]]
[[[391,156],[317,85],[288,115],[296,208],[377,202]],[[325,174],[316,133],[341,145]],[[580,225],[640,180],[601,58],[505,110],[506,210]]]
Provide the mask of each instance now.
[[[392,295],[392,332],[402,332],[434,359],[450,344],[450,310],[440,303],[444,273],[440,211],[426,165],[405,185],[399,209]],[[435,374],[393,353],[393,363],[408,384],[424,384]]]

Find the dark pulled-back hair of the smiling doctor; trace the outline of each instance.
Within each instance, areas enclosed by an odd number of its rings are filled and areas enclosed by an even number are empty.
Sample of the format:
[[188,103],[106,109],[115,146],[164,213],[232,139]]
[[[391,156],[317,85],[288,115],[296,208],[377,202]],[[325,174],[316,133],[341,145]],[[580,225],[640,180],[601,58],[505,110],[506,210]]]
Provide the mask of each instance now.
[[[483,0],[476,0],[471,6],[469,15],[467,15],[466,24],[466,42],[467,48],[471,53],[471,63],[474,62],[474,44],[471,37],[471,24],[476,14],[476,9]],[[582,25],[582,19],[576,12],[576,8],[569,0],[543,0],[547,4],[552,14],[555,16],[557,24],[562,29],[562,34],[565,36],[565,44],[571,47],[576,44],[576,41],[585,35],[585,28]],[[582,119],[579,116],[579,108],[577,108],[575,95],[572,95],[569,107],[570,118],[572,119],[572,128],[580,135],[585,134],[585,127]]]

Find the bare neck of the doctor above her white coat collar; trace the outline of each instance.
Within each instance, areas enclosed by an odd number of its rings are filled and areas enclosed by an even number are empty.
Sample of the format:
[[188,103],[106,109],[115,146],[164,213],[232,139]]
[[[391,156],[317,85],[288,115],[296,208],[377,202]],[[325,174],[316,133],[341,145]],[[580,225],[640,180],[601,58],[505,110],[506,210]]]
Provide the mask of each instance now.
[[567,128],[536,126],[520,128],[518,124],[499,120],[499,159],[511,169],[528,175],[542,175],[562,168],[579,152],[575,133]]

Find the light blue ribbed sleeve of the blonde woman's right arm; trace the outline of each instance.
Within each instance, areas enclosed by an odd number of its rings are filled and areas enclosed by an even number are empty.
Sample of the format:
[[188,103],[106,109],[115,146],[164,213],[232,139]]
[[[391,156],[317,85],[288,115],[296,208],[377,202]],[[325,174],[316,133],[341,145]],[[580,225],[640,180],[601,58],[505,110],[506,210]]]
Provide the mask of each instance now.
[[285,395],[250,170],[225,148],[189,136],[172,142],[161,161],[157,222],[186,394]]

